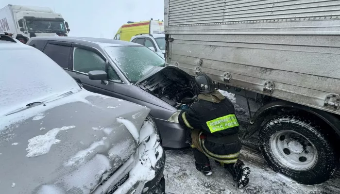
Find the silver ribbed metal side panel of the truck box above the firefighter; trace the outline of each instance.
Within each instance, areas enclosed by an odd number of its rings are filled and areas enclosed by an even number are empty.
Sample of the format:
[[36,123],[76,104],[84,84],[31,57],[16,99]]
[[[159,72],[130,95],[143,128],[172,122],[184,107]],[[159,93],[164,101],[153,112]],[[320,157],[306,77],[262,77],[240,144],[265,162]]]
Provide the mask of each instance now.
[[340,0],[165,0],[165,31],[191,75],[340,114]]

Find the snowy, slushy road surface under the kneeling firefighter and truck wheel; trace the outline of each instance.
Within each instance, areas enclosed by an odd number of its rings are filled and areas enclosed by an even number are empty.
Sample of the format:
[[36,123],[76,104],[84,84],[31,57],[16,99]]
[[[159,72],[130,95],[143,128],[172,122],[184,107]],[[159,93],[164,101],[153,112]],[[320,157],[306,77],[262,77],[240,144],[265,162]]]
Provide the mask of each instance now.
[[[235,98],[230,93],[223,92],[233,103]],[[238,105],[236,114],[241,123],[247,123],[248,112]],[[243,126],[243,128],[245,128]],[[240,133],[243,129],[240,130]],[[245,142],[248,146],[257,147],[254,135]],[[318,185],[301,185],[285,176],[275,173],[266,164],[262,155],[252,148],[243,146],[241,160],[252,172],[248,187],[238,189],[231,175],[211,161],[211,176],[204,176],[196,170],[194,157],[190,149],[167,150],[164,177],[167,194],[340,194],[340,172],[334,178]]]

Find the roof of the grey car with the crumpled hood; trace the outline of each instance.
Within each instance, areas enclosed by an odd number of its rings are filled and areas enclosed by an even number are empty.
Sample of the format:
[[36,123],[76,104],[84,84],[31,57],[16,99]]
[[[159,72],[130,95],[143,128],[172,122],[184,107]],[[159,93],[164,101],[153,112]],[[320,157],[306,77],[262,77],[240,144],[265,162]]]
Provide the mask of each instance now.
[[90,46],[100,46],[100,47],[118,47],[118,46],[141,46],[136,43],[114,40],[107,38],[90,38],[90,37],[72,37],[72,36],[40,36],[30,38],[29,42],[33,40],[51,40],[51,41],[64,41],[71,43],[78,43]]

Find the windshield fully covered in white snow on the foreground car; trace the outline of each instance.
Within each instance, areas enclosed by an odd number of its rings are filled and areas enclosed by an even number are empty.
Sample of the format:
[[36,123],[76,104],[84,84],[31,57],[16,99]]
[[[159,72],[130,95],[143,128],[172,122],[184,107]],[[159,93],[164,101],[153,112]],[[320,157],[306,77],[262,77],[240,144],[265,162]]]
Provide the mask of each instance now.
[[68,73],[38,49],[0,47],[0,53],[0,115],[81,90]]

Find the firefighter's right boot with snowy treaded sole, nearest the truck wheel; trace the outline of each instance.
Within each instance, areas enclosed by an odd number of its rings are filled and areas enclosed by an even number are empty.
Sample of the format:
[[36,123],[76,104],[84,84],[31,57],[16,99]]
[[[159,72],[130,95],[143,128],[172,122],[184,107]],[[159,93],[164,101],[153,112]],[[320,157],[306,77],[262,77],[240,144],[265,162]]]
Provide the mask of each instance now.
[[233,175],[233,179],[238,182],[238,188],[242,188],[249,183],[250,168],[245,166],[244,163],[238,159],[234,164],[225,165],[230,173]]

